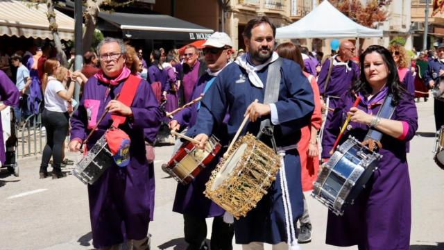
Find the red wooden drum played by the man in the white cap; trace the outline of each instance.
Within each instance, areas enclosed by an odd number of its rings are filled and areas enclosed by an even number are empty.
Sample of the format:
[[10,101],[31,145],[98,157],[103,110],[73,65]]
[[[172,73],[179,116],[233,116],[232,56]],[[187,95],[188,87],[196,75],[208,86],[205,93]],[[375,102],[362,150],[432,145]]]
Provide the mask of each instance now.
[[191,142],[185,142],[169,160],[167,172],[179,183],[187,185],[211,163],[220,150],[221,144],[214,136],[208,139],[205,149],[197,149]]

